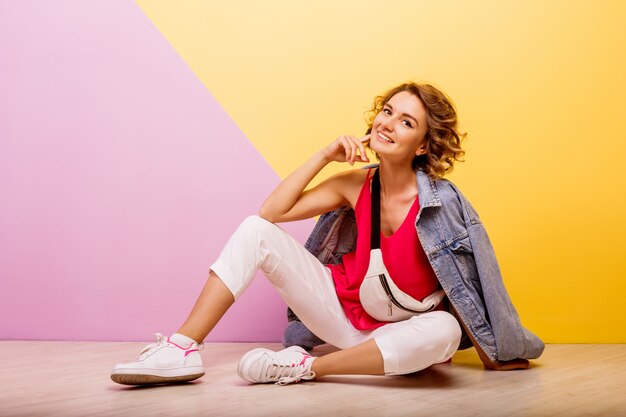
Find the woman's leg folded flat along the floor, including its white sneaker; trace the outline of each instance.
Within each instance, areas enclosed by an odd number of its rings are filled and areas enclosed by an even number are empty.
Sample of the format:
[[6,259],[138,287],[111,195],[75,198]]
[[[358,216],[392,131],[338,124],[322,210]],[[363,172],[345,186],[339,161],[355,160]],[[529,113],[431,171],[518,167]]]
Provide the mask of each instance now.
[[436,311],[360,332],[360,337],[365,341],[319,358],[298,348],[255,349],[242,358],[238,373],[251,382],[279,384],[325,375],[409,374],[450,359],[459,346],[461,329],[452,315]]

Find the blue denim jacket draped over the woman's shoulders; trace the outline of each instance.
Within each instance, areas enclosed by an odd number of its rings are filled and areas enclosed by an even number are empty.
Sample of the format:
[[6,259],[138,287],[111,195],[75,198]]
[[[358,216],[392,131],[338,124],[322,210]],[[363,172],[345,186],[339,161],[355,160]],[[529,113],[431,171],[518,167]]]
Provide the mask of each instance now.
[[[420,208],[415,231],[450,303],[491,360],[538,358],[543,342],[522,327],[502,282],[487,232],[478,214],[447,179],[416,171]],[[323,214],[305,247],[324,264],[334,264],[356,245],[354,211]],[[466,334],[460,349],[471,347]]]

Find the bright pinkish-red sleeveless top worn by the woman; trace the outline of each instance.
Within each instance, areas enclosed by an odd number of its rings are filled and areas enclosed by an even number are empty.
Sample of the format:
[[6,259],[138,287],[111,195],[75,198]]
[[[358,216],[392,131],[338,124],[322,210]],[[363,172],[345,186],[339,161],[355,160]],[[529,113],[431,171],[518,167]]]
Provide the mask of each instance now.
[[[365,278],[370,258],[371,173],[372,169],[367,173],[354,209],[358,230],[356,249],[345,254],[340,264],[326,265],[332,273],[339,302],[352,325],[358,330],[373,330],[388,323],[367,314],[359,300],[359,288]],[[422,300],[437,290],[439,281],[415,231],[418,211],[419,196],[415,198],[409,214],[393,235],[385,237],[381,231],[380,248],[383,262],[398,288],[416,300]]]

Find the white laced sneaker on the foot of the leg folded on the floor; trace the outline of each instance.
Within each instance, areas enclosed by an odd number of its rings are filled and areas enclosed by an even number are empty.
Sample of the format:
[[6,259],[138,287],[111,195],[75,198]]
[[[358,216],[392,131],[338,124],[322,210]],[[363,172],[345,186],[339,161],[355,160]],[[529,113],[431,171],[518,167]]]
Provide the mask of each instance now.
[[252,349],[239,361],[237,374],[257,384],[276,382],[277,385],[286,385],[315,378],[315,372],[311,371],[314,359],[300,346],[291,346],[280,352]]

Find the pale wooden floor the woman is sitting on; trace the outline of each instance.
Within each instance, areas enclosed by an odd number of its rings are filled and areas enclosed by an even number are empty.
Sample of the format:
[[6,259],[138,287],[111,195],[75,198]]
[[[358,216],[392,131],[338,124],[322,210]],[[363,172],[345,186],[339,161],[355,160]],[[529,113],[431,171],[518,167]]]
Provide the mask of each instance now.
[[484,371],[470,349],[410,376],[280,387],[236,374],[249,349],[279,344],[214,343],[201,352],[207,375],[196,382],[112,382],[111,367],[144,345],[0,341],[0,416],[626,416],[626,345],[548,345],[532,369],[512,372]]

